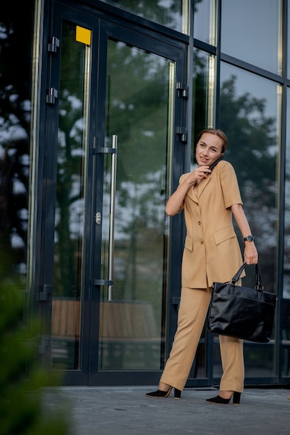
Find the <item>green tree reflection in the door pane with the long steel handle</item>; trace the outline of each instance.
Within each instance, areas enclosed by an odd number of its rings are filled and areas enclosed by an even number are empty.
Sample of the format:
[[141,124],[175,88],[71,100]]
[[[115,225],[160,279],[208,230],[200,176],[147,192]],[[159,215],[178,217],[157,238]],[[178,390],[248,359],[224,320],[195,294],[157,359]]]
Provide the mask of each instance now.
[[169,62],[160,56],[120,42],[108,44],[107,140],[118,134],[115,263],[120,279],[114,294],[145,298],[158,309],[160,297],[156,298],[156,291],[162,289],[163,269],[168,71]]

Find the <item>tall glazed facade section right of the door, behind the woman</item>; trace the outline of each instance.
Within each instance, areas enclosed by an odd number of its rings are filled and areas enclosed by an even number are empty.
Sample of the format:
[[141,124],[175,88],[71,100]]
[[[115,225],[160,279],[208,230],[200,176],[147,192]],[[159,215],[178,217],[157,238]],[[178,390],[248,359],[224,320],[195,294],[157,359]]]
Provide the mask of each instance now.
[[[220,3],[216,2],[216,12],[219,12],[216,17],[212,17],[214,8],[210,1],[195,4],[193,140],[201,127],[212,126],[212,120],[216,120],[216,126],[227,134],[229,146],[226,158],[236,169],[245,213],[257,240],[263,281],[268,290],[278,293],[278,263],[281,261],[279,221],[282,213],[280,206],[283,204],[280,196],[280,182],[283,180],[281,126],[282,107],[286,106],[283,106],[282,95],[285,94],[280,81],[282,1],[253,3],[222,0]],[[284,8],[286,6],[284,3]],[[204,10],[207,11],[207,19],[204,22],[211,22],[211,27],[208,24],[199,25],[200,18],[204,17]],[[220,41],[220,46],[217,46],[216,50],[216,44],[210,42],[209,35],[214,33],[214,23],[218,17],[220,34],[217,40]],[[209,44],[207,49],[202,46],[202,42]],[[213,80],[210,78],[213,76],[212,65],[215,64]],[[264,73],[258,74],[259,69],[263,69]],[[209,98],[211,89],[214,89],[214,98]],[[285,190],[287,192],[287,188]],[[286,216],[285,214],[285,222]],[[287,253],[286,245],[285,237]],[[249,270],[243,282],[250,284],[252,279],[253,274]],[[284,277],[284,284],[286,282],[287,277]],[[284,299],[282,313],[282,322],[286,324],[289,317],[285,315],[287,309]],[[276,334],[274,327],[271,343],[264,346],[245,342],[245,367],[249,382],[251,378],[275,377],[275,361],[278,354],[275,347]],[[282,327],[284,343],[287,334],[289,331]],[[214,378],[218,379],[222,368],[216,339],[214,349]],[[287,376],[285,370],[289,371],[285,355],[288,355],[286,345],[282,351],[283,376]]]

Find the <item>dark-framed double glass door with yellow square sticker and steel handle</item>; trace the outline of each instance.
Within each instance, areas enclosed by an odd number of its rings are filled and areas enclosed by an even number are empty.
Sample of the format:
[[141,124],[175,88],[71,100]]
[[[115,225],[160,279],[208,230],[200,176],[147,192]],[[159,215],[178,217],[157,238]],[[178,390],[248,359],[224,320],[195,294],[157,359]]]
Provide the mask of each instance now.
[[67,384],[156,382],[168,353],[164,210],[186,51],[74,14],[54,8],[50,46],[50,365]]

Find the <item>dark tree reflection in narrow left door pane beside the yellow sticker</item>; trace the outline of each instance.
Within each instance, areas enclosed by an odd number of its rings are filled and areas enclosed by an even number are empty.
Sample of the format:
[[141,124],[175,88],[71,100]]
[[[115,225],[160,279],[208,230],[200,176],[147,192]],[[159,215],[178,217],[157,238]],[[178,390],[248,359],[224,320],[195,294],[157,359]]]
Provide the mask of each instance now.
[[[64,24],[59,104],[54,295],[79,296],[83,236],[83,44]],[[77,65],[77,67],[76,67]]]

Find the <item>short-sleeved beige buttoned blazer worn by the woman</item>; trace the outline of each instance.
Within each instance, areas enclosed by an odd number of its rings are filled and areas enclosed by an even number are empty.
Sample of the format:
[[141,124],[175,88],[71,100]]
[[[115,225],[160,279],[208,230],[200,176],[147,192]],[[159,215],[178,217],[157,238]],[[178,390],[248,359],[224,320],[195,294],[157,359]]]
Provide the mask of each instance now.
[[[183,174],[179,184],[188,174]],[[207,179],[184,198],[186,240],[182,258],[182,286],[207,288],[226,282],[243,264],[232,222],[233,204],[243,204],[234,168],[220,161]],[[241,277],[244,276],[244,272]]]

